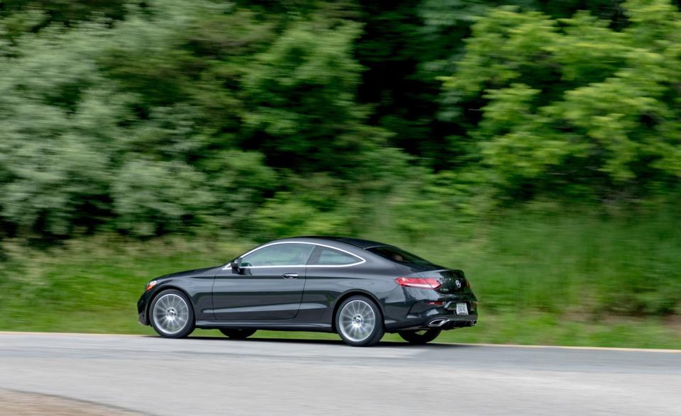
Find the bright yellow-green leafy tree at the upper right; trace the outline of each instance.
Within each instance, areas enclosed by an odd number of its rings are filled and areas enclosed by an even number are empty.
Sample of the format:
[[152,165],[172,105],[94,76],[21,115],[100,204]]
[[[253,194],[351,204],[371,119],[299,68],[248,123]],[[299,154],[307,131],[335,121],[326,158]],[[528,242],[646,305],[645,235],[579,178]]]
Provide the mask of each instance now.
[[502,189],[633,196],[678,181],[680,15],[666,1],[624,7],[622,31],[510,8],[475,23],[445,94]]

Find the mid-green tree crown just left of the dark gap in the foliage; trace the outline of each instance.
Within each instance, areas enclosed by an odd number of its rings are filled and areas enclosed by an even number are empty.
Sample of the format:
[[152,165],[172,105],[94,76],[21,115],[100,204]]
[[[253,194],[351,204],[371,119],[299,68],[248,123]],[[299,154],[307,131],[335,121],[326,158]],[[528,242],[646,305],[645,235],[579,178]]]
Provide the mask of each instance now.
[[343,174],[355,154],[380,144],[382,132],[365,127],[367,111],[355,101],[358,34],[352,23],[301,21],[256,55],[243,82],[243,145],[275,167]]

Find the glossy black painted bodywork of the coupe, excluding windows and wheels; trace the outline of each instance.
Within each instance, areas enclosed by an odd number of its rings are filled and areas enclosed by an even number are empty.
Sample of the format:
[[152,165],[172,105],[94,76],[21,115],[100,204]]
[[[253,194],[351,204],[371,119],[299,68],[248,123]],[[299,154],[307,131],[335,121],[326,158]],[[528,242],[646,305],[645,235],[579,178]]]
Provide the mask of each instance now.
[[[188,296],[194,307],[196,327],[201,328],[335,332],[336,307],[356,294],[375,300],[388,332],[425,328],[428,322],[440,317],[450,320],[441,327],[443,330],[473,326],[477,322],[477,299],[466,284],[463,271],[433,264],[399,264],[367,250],[388,245],[380,242],[341,237],[297,237],[276,242],[336,247],[365,262],[354,266],[271,266],[240,270],[233,269],[230,262],[168,274],[155,279],[157,285],[140,297],[140,322],[149,325],[151,301],[168,288]],[[443,286],[438,290],[402,287],[394,281],[401,276],[432,277],[441,280]],[[456,279],[463,283],[462,287],[454,285]],[[428,305],[429,301],[443,302],[443,305]],[[468,315],[456,315],[453,310],[456,301],[467,303]],[[454,303],[450,305],[450,302]]]

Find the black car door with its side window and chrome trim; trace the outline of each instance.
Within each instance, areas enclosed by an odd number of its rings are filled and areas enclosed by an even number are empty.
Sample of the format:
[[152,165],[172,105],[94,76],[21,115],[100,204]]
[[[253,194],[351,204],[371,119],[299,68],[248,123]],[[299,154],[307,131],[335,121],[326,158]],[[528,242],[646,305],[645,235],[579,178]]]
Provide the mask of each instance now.
[[314,244],[266,244],[241,258],[241,268],[218,271],[213,285],[215,319],[287,320],[298,314],[306,262]]

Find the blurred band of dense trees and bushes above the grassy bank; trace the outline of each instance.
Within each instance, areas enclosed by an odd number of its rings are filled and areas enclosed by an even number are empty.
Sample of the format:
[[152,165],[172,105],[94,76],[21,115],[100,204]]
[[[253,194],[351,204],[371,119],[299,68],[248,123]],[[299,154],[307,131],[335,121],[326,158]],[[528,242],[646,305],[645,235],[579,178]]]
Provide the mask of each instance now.
[[673,193],[676,6],[507,3],[5,1],[4,234],[357,233],[389,211],[411,235]]

